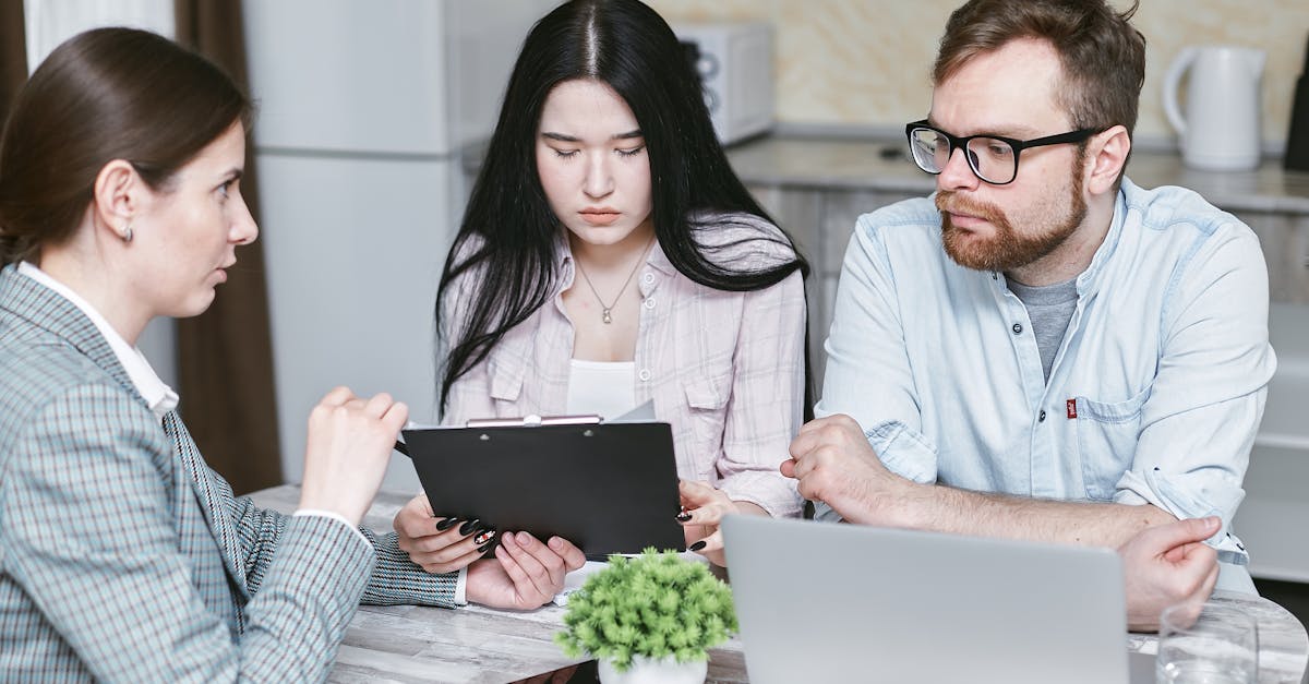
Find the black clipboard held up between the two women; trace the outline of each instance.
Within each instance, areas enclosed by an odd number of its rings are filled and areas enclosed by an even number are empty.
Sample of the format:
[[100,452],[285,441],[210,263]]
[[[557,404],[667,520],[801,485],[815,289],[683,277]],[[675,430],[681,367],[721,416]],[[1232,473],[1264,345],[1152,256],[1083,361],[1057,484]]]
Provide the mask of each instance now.
[[592,557],[686,548],[668,423],[529,417],[403,435],[437,515],[558,535]]

